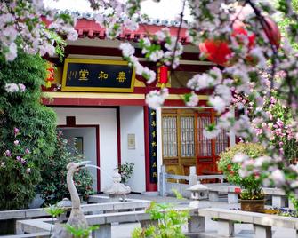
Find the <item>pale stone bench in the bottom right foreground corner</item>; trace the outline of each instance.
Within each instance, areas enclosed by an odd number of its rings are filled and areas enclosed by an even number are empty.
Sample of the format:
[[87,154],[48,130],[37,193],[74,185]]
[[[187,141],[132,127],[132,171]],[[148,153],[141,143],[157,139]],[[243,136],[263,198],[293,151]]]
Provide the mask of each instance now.
[[288,218],[278,215],[269,215],[242,210],[225,210],[217,208],[199,209],[199,218],[215,218],[218,222],[218,236],[234,236],[234,223],[251,223],[254,226],[255,238],[271,238],[271,227],[284,227],[296,231],[295,238],[298,238],[298,218]]

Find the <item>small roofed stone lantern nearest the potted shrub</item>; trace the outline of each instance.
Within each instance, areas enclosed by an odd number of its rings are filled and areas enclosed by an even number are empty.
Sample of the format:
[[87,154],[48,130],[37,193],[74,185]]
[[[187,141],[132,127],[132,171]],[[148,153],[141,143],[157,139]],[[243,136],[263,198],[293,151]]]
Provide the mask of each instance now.
[[204,201],[208,199],[209,188],[207,186],[197,183],[187,188],[187,190],[190,191],[190,199],[192,200],[189,202],[190,207],[204,208],[210,206],[208,201]]

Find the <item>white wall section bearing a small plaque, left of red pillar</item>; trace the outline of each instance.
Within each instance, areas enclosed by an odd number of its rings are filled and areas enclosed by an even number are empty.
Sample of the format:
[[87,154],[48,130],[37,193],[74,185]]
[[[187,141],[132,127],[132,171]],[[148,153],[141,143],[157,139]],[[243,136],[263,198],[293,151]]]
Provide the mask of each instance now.
[[[121,162],[134,163],[133,177],[129,185],[133,192],[146,191],[144,113],[143,107],[120,107]],[[128,149],[127,135],[135,134],[135,149]]]

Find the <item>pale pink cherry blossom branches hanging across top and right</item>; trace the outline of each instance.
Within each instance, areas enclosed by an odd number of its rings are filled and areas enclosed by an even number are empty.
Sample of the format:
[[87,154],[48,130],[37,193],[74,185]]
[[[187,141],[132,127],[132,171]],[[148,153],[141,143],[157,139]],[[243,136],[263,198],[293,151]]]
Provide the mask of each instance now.
[[[106,28],[109,38],[119,36],[125,28],[137,29],[141,19],[146,18],[140,13],[141,0],[89,2],[94,9],[96,22]],[[270,1],[254,0],[181,0],[181,3],[177,36],[171,36],[169,29],[163,28],[141,39],[139,47],[144,58],[158,66],[175,69],[183,52],[178,40],[181,28],[188,28],[189,40],[200,48],[201,59],[209,59],[220,65],[190,78],[187,85],[192,92],[184,97],[186,105],[194,107],[197,106],[200,90],[213,89],[208,103],[216,109],[219,120],[217,124],[205,128],[205,136],[213,138],[222,130],[227,130],[246,141],[262,143],[268,156],[265,161],[260,161],[261,166],[255,166],[254,172],[262,173],[266,169],[269,172],[264,181],[283,187],[287,194],[297,194],[297,165],[290,165],[289,160],[280,153],[280,147],[272,146],[270,133],[262,133],[260,137],[256,132],[258,126],[255,126],[270,123],[270,115],[262,107],[274,91],[274,97],[278,98],[282,107],[291,110],[291,139],[294,143],[298,141],[298,54],[286,38],[280,42],[278,29],[270,19],[275,13],[286,18],[286,36],[296,42],[298,14],[293,10],[292,1],[278,0],[276,6],[271,5]],[[193,19],[190,21],[184,19],[187,6]],[[76,20],[66,13],[45,9],[42,1],[3,1],[0,9],[0,52],[7,61],[17,56],[17,46],[28,53],[51,55],[55,52],[54,42],[59,36],[72,40],[77,37],[72,28]],[[42,16],[45,16],[44,19]],[[44,20],[51,23],[47,25]],[[213,55],[208,50],[210,44],[217,47]],[[134,56],[132,44],[122,43],[120,49],[124,59],[136,68],[137,75],[142,75],[147,83],[156,80],[156,73],[141,65]],[[264,74],[268,76],[264,77]],[[280,74],[283,76],[280,77]],[[235,94],[249,101],[249,114],[247,105],[237,101]],[[166,88],[151,91],[146,102],[149,107],[157,108],[163,105],[168,95]],[[243,113],[235,116],[234,112],[239,110]]]

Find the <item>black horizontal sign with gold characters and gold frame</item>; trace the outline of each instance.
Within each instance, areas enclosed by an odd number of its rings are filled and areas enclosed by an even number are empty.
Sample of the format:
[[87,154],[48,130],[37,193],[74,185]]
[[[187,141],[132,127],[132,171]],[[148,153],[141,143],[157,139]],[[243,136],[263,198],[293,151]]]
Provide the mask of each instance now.
[[65,59],[62,91],[133,92],[134,70],[125,61]]

